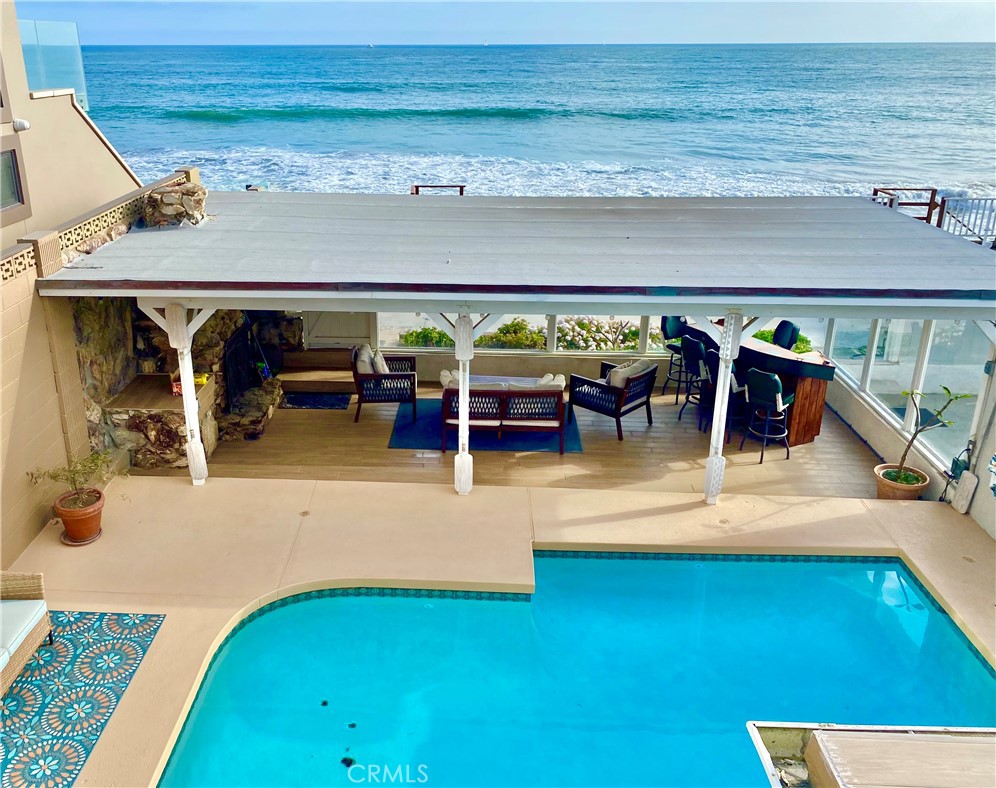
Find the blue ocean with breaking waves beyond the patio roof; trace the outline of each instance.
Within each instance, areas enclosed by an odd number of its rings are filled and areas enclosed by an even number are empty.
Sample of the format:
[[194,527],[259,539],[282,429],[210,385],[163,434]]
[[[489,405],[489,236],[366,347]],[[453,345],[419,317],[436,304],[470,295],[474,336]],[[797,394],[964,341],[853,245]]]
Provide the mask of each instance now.
[[469,194],[996,191],[991,44],[83,48],[143,180]]

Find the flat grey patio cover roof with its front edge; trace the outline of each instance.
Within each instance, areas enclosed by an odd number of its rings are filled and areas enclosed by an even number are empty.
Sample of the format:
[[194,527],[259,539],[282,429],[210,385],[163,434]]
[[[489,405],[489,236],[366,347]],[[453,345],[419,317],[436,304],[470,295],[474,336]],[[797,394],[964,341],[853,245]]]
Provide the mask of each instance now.
[[214,192],[42,295],[330,311],[991,320],[996,254],[856,197]]

